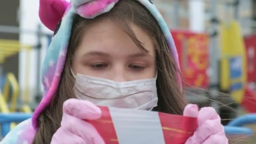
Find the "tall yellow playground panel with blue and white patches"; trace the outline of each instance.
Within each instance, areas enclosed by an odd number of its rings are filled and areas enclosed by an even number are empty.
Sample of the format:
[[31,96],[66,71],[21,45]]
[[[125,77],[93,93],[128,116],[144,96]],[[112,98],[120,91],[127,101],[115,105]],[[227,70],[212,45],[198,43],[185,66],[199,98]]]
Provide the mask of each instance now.
[[237,21],[221,26],[220,86],[241,104],[246,87],[246,52]]

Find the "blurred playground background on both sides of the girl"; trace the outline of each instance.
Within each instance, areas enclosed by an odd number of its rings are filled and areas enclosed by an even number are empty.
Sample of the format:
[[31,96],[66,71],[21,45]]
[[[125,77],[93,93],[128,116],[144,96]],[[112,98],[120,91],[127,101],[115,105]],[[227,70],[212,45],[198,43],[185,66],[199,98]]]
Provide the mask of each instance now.
[[[227,134],[248,135],[253,141],[256,0],[152,2],[176,43],[186,99],[214,107]],[[31,114],[42,98],[40,68],[53,32],[41,24],[38,9],[39,0],[0,1],[0,114]],[[0,115],[0,137],[19,121],[14,119],[1,121]],[[243,125],[248,127],[231,128]]]

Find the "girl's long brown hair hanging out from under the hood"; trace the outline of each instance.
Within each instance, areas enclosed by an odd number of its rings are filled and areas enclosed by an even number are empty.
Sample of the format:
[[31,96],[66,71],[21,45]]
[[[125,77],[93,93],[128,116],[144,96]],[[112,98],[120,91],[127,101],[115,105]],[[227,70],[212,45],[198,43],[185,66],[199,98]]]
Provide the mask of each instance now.
[[155,42],[157,75],[158,106],[155,111],[181,115],[187,104],[180,86],[177,83],[177,67],[171,57],[167,42],[155,18],[136,0],[120,0],[108,13],[95,19],[84,19],[74,15],[71,37],[64,70],[55,97],[38,118],[38,131],[35,134],[33,144],[49,144],[56,130],[60,127],[62,117],[62,104],[70,98],[75,98],[73,92],[74,77],[70,72],[72,56],[75,48],[80,43],[80,38],[86,27],[100,19],[111,19],[127,33],[133,42],[142,50],[143,44],[137,39],[131,23],[138,25]]

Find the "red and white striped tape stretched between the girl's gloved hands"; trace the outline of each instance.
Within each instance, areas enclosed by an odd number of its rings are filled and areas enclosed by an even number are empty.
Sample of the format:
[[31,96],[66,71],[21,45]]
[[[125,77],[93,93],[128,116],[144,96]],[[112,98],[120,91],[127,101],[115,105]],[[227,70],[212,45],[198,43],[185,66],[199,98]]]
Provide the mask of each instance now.
[[100,107],[99,120],[87,120],[106,144],[184,144],[197,118],[162,112]]

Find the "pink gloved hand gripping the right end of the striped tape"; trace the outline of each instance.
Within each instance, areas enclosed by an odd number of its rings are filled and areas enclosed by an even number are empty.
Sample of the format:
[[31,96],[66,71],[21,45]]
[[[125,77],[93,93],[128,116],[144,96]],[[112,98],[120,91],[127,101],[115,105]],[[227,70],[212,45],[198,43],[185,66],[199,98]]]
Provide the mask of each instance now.
[[188,104],[184,116],[197,117],[197,130],[185,144],[228,144],[228,139],[221,125],[221,118],[212,107],[203,107],[198,112],[195,104]]

